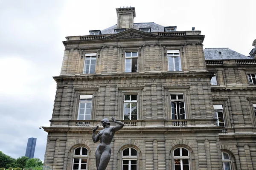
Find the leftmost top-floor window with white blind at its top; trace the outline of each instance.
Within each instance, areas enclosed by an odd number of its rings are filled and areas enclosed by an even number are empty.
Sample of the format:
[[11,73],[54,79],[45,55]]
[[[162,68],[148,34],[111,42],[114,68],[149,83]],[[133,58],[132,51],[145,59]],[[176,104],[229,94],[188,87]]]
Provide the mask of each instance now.
[[95,74],[96,53],[85,54],[83,74]]

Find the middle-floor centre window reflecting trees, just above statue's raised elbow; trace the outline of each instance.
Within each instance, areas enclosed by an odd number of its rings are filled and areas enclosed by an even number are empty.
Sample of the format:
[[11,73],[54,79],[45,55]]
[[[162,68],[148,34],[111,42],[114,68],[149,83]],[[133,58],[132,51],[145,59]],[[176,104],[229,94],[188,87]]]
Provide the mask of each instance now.
[[125,95],[124,120],[137,120],[137,95]]

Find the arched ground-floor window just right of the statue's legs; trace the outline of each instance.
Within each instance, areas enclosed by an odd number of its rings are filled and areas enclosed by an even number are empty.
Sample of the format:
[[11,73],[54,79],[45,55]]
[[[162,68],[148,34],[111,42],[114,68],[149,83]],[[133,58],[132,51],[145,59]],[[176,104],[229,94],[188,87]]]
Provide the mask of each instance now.
[[137,153],[137,150],[131,147],[122,151],[122,170],[137,170]]

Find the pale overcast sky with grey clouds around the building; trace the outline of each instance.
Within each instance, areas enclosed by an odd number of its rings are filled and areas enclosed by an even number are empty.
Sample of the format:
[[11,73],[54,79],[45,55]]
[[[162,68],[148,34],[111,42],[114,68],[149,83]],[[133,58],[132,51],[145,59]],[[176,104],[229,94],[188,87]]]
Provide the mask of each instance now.
[[204,48],[228,47],[248,55],[256,39],[256,0],[0,0],[0,151],[44,160],[56,83],[67,36],[116,24],[116,9],[136,8],[134,23],[201,30]]

